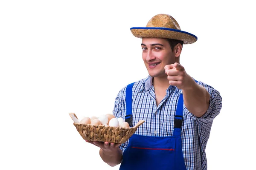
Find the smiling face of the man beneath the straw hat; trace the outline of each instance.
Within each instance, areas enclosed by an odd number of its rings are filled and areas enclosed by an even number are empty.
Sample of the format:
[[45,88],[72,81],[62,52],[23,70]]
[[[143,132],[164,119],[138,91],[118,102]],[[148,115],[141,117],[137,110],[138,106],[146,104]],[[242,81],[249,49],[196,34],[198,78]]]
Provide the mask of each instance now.
[[163,38],[143,38],[142,58],[151,77],[167,77],[164,66],[175,63],[175,54]]

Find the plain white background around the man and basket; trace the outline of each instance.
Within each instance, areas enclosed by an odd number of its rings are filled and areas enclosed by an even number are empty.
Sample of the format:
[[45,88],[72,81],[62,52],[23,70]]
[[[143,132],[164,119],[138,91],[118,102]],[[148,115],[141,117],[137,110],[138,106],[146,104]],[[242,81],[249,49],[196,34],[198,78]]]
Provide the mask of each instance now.
[[198,37],[180,63],[223,98],[208,170],[255,167],[255,9],[250,1],[0,1],[0,169],[118,170],[70,118],[112,113],[119,90],[148,74],[141,40],[155,14]]

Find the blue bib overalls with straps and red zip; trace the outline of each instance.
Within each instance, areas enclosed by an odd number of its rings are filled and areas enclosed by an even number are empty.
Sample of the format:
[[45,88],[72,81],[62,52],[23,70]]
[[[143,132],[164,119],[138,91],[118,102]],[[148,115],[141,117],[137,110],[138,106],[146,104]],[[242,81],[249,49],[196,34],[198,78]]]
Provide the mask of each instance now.
[[[126,115],[132,115],[133,85],[131,83],[126,88]],[[186,170],[180,136],[182,120],[183,95],[180,94],[173,136],[132,135],[119,170]]]

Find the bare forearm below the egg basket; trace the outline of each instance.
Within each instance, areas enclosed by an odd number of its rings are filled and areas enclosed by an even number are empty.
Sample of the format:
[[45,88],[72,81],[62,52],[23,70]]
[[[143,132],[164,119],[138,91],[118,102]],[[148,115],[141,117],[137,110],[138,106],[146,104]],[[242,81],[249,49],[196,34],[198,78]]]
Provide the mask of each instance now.
[[99,155],[102,160],[109,164],[111,167],[120,164],[122,161],[122,150],[119,148],[116,151],[111,152],[111,154],[105,153],[102,149],[100,149]]

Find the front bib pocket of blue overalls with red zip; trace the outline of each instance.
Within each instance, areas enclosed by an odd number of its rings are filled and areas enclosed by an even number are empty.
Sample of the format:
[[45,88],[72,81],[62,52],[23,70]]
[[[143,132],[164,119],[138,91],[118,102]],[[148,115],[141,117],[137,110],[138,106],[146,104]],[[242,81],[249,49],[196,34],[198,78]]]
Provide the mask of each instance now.
[[174,137],[133,135],[124,151],[121,170],[173,170],[175,153]]

